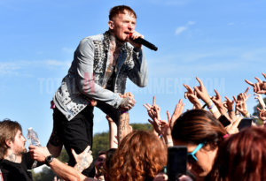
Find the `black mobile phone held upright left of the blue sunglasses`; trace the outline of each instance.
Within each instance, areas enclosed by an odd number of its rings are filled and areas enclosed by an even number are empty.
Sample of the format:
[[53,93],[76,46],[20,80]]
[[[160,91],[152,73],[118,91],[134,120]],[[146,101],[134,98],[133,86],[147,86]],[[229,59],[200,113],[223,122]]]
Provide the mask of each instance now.
[[176,181],[186,174],[187,147],[168,147],[168,181]]

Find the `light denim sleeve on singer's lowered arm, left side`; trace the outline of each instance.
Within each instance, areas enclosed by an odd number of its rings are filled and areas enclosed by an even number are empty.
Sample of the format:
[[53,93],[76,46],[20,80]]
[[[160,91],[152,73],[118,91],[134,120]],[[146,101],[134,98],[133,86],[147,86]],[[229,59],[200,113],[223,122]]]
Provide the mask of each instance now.
[[95,83],[93,75],[94,49],[93,41],[85,39],[81,41],[74,53],[77,63],[77,87],[82,94],[89,98],[106,102],[114,108],[118,108],[122,100],[119,94],[113,93]]

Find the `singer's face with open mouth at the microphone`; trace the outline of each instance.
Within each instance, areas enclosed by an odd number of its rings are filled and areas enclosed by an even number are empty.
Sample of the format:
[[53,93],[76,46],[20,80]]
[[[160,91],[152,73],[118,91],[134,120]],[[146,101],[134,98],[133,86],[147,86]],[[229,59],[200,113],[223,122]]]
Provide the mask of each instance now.
[[115,38],[122,42],[129,41],[129,33],[135,31],[135,26],[136,18],[128,11],[125,11],[124,14],[118,14],[109,24]]

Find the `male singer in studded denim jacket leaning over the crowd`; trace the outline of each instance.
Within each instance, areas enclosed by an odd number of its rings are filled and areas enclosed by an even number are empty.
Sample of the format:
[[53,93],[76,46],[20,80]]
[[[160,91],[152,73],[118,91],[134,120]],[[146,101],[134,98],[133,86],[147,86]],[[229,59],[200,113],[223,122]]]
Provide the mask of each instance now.
[[[141,44],[133,41],[143,38],[135,31],[136,19],[135,11],[129,6],[113,7],[109,14],[109,30],[80,42],[68,74],[53,97],[53,133],[63,141],[71,166],[74,157],[70,149],[80,154],[92,145],[95,101],[99,109],[118,123],[120,114],[135,105],[131,94],[121,96],[125,93],[127,78],[138,87],[147,85],[144,51]],[[49,144],[58,146],[53,137]]]

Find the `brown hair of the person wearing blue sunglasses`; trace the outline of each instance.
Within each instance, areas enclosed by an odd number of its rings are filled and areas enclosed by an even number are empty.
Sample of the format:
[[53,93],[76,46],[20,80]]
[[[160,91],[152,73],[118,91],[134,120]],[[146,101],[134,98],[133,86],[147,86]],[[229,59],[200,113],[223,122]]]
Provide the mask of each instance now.
[[223,125],[204,109],[192,109],[178,117],[172,138],[192,145],[205,143],[215,149],[227,134]]

